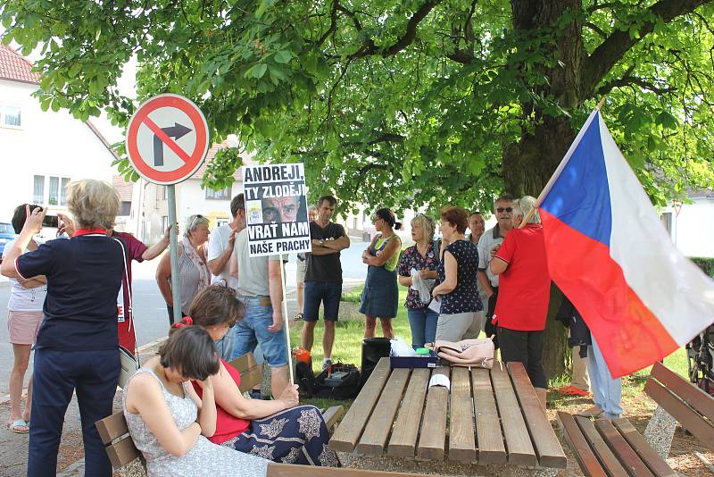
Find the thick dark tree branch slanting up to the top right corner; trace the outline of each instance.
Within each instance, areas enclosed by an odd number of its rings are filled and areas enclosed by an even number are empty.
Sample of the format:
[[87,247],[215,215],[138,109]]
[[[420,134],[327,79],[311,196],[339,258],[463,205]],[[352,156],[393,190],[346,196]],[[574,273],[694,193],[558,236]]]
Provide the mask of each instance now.
[[[702,4],[711,2],[712,0],[660,0],[643,13],[652,13],[668,23],[678,16],[693,12]],[[600,46],[595,48],[593,54],[590,54],[585,60],[585,74],[583,75],[585,94],[594,91],[595,86],[602,81],[602,78],[622,59],[627,51],[644,36],[652,33],[654,25],[655,21],[643,21],[638,28],[638,38],[631,38],[627,28],[617,29]]]

